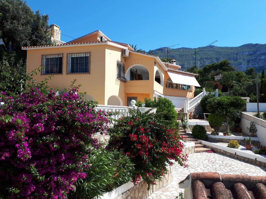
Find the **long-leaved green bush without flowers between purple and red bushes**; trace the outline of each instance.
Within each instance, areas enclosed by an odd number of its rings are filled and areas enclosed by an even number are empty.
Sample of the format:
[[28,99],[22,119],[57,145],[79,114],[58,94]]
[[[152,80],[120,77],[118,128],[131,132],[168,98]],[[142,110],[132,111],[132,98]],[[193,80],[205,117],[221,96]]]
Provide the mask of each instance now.
[[102,196],[117,185],[132,181],[134,165],[130,158],[118,150],[106,151],[102,148],[90,150],[87,161],[90,167],[86,178],[77,180],[76,191],[70,192],[68,198],[93,198]]

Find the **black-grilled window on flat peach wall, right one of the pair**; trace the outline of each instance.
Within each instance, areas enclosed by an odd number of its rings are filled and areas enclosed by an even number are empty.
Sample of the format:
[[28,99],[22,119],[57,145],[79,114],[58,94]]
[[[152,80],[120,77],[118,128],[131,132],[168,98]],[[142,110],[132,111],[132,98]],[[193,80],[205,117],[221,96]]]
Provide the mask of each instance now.
[[67,54],[66,74],[89,74],[90,53]]

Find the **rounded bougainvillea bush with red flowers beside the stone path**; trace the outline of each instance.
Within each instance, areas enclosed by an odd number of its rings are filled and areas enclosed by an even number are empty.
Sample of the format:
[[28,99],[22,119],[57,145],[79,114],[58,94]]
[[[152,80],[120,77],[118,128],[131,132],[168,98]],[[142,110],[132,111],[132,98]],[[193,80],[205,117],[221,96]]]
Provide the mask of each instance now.
[[131,110],[131,116],[123,117],[110,129],[109,147],[123,151],[135,164],[134,183],[141,177],[150,184],[167,173],[170,160],[187,166],[184,144],[176,129],[165,126],[154,113]]

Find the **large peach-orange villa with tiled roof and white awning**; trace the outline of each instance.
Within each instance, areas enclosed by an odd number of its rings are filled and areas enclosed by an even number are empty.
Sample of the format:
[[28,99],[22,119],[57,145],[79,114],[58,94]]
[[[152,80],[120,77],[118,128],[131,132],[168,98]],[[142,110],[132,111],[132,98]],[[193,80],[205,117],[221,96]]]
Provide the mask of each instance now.
[[177,108],[194,97],[200,86],[194,73],[179,70],[175,60],[163,63],[158,56],[134,51],[125,43],[111,41],[94,31],[65,44],[28,46],[27,72],[45,66],[34,78],[42,81],[54,75],[48,84],[59,91],[74,79],[81,84],[85,99],[103,105],[128,106],[132,99],[167,97]]

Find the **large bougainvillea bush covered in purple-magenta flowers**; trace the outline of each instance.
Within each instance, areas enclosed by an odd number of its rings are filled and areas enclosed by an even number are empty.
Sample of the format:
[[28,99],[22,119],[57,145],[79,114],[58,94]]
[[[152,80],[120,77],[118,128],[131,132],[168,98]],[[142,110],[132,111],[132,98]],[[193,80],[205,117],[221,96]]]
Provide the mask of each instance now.
[[0,98],[1,198],[65,198],[86,179],[88,154],[107,133],[107,113],[82,101],[77,87],[56,94],[30,87],[18,96]]

